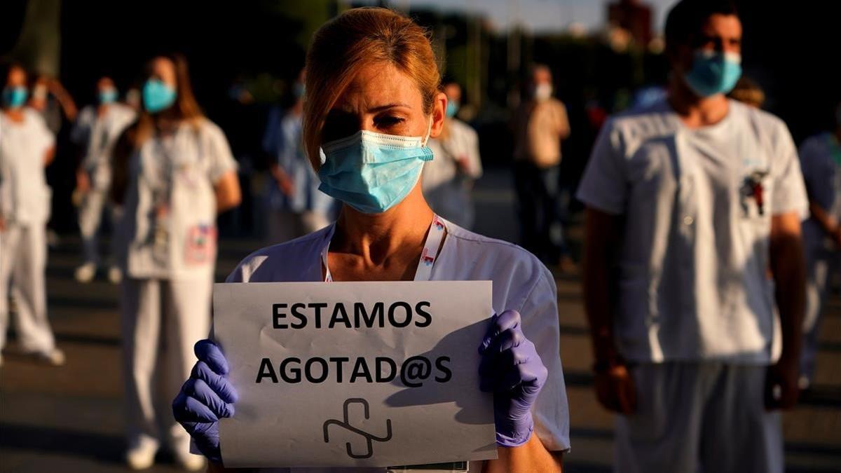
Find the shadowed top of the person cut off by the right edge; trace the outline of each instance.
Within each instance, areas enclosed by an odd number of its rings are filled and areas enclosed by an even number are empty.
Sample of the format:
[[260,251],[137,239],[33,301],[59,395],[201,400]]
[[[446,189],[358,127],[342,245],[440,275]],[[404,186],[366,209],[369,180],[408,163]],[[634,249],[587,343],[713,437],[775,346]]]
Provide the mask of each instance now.
[[[800,146],[800,165],[809,199],[841,221],[841,143],[833,133],[807,138]],[[803,237],[809,245],[834,248],[814,219],[803,223]]]

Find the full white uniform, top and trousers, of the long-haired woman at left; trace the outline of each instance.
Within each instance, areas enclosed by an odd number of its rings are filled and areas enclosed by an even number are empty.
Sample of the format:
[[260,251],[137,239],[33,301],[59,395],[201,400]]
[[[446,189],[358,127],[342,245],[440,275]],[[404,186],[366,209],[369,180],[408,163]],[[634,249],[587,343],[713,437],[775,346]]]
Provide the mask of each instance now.
[[[157,444],[156,422],[172,447],[189,438],[169,403],[193,366],[193,344],[207,336],[216,260],[214,184],[236,162],[222,130],[208,120],[152,136],[130,157],[130,181],[118,225],[123,259],[122,334],[130,448]],[[164,206],[166,215],[156,217]],[[164,372],[158,375],[158,369]],[[156,413],[157,394],[164,400]]]

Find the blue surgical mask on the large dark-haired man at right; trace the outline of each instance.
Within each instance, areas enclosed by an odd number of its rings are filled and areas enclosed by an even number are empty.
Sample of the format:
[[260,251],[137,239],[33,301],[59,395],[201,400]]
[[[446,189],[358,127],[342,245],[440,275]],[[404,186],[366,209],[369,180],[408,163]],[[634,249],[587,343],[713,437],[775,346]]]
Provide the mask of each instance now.
[[697,50],[692,69],[686,73],[686,84],[700,97],[728,93],[736,87],[742,75],[742,56],[737,53],[720,53]]

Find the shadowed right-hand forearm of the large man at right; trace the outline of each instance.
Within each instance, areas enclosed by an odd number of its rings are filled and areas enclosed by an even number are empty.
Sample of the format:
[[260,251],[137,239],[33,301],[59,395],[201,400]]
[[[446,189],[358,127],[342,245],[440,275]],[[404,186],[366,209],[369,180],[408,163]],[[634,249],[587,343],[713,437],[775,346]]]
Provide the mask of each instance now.
[[806,268],[799,235],[772,238],[771,272],[775,279],[775,299],[780,310],[782,358],[796,360],[800,357],[803,311],[806,305]]

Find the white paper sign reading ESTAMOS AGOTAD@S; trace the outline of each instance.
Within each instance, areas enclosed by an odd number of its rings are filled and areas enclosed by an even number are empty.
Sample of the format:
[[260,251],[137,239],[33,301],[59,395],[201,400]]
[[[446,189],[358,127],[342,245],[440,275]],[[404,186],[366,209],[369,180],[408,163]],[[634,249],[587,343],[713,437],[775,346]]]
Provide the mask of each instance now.
[[490,281],[215,284],[240,395],[225,466],[496,458],[477,351],[492,313]]

